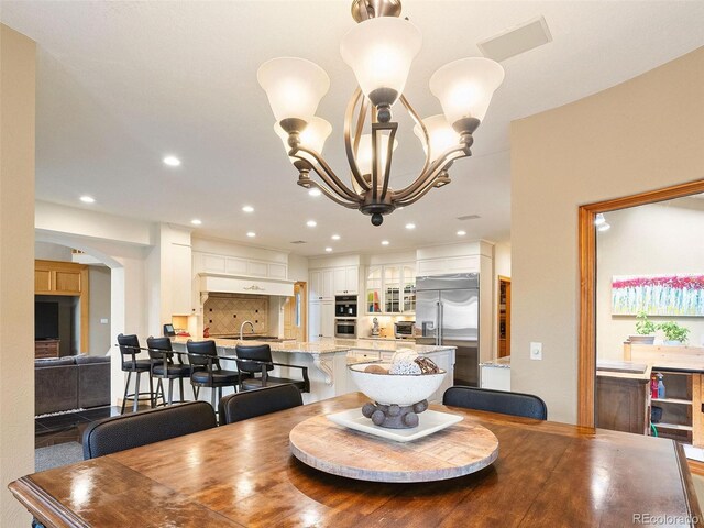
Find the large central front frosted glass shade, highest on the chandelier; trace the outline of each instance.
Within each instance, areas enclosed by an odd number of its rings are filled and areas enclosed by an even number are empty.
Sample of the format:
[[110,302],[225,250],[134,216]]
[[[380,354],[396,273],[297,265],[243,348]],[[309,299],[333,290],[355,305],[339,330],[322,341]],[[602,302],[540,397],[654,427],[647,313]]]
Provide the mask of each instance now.
[[364,95],[375,106],[391,106],[403,94],[421,44],[422,35],[414,24],[396,16],[381,16],[352,28],[340,42],[340,54]]

